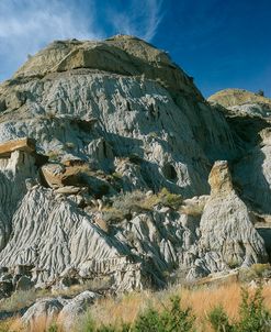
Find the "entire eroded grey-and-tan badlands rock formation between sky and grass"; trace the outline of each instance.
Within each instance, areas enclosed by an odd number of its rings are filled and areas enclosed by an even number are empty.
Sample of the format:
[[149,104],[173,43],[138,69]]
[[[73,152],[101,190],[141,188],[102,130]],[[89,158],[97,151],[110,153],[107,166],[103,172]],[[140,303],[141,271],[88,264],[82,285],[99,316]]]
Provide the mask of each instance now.
[[0,296],[161,288],[269,262],[270,106],[237,89],[205,100],[133,36],[30,57],[0,85]]

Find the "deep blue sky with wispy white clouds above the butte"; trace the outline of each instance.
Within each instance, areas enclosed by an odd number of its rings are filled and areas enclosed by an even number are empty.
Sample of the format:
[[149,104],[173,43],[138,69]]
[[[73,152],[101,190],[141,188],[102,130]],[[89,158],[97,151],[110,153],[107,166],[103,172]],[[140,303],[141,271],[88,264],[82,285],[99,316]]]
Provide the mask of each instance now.
[[0,0],[0,80],[53,40],[116,33],[168,51],[205,97],[271,97],[270,0]]

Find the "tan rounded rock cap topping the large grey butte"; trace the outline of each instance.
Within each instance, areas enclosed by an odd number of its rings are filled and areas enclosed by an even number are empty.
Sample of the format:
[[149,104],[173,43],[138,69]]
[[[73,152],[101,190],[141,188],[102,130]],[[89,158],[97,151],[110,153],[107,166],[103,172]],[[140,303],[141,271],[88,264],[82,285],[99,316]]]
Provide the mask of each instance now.
[[172,90],[181,89],[203,101],[193,80],[165,52],[127,35],[103,42],[54,42],[30,58],[16,71],[15,77],[44,76],[77,68],[99,69],[125,76],[144,75],[146,79],[158,80]]

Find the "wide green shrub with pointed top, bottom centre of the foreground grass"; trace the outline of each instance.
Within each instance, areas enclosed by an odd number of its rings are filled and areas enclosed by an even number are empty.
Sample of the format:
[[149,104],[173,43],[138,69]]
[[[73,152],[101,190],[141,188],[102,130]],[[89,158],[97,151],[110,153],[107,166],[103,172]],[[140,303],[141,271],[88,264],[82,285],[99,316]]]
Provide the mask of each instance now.
[[132,328],[133,332],[189,332],[192,331],[194,317],[191,309],[181,309],[180,298],[171,298],[169,309],[165,308],[159,312],[148,309],[140,314]]

